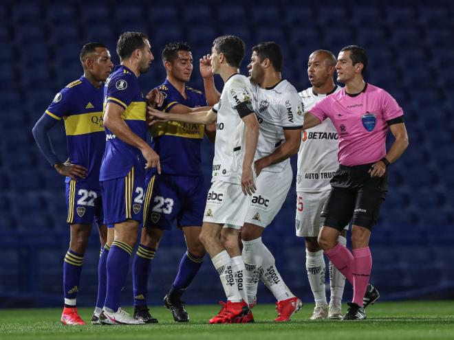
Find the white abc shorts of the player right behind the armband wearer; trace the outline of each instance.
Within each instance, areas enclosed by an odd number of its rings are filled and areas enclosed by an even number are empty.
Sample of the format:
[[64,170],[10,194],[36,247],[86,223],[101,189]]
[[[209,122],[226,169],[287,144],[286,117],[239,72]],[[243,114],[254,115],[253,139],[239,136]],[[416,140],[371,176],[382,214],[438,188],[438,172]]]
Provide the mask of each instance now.
[[282,172],[261,172],[257,177],[257,191],[246,216],[246,223],[265,228],[282,207],[292,185],[293,172],[290,164]]

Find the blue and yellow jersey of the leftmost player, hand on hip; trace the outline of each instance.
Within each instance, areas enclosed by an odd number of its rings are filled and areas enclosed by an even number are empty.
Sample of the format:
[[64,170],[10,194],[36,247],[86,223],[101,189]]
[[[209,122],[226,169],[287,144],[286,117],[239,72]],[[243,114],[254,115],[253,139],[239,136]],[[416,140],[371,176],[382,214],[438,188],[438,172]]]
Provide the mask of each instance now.
[[[99,188],[99,169],[105,149],[102,125],[102,87],[96,89],[85,77],[67,84],[57,93],[45,113],[65,122],[69,161],[88,169],[78,183]],[[69,182],[70,178],[66,178]]]

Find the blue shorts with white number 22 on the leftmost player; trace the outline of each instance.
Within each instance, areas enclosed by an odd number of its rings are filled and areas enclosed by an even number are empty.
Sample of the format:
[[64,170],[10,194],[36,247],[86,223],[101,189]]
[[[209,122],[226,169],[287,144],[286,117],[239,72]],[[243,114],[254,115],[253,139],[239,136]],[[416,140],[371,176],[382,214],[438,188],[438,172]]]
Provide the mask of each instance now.
[[72,179],[66,183],[66,206],[70,225],[87,224],[96,222],[98,227],[102,225],[102,199],[99,188],[93,189],[85,184],[77,183]]

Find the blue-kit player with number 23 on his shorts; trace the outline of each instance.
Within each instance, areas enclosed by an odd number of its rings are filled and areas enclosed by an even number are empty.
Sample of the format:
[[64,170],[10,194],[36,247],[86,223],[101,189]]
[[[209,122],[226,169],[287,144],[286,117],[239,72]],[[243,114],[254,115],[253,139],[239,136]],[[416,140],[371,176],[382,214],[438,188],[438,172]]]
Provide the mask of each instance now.
[[[186,86],[193,71],[191,47],[186,43],[167,44],[162,51],[162,62],[167,77],[158,87],[164,97],[158,109],[170,113],[209,109],[203,93]],[[164,297],[164,306],[171,310],[175,321],[189,321],[181,296],[202,266],[205,255],[199,240],[206,200],[206,193],[201,190],[204,177],[200,147],[204,130],[204,125],[180,122],[154,124],[151,128],[151,147],[160,155],[162,174],[157,174],[154,168],[147,172],[144,227],[133,260],[134,317],[147,324],[158,322],[147,308],[149,265],[164,230],[175,225],[184,232],[187,251]]]

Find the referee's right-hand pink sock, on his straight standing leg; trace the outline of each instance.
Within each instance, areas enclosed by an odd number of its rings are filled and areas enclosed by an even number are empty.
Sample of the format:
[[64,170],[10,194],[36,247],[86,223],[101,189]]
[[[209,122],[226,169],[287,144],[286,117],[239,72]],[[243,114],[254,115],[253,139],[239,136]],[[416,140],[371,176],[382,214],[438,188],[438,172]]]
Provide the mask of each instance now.
[[371,275],[372,256],[369,247],[353,249],[353,302],[363,306],[369,276]]

